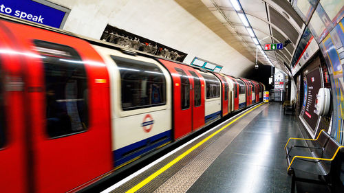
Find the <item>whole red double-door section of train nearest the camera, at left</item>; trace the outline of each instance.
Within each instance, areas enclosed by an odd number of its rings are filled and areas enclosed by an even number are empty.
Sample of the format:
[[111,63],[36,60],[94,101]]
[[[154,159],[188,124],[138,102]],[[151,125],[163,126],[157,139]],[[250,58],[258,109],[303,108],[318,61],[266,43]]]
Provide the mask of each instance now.
[[1,41],[1,66],[14,80],[6,86],[25,82],[4,93],[9,139],[0,157],[8,164],[0,165],[12,171],[1,187],[66,192],[111,170],[109,83],[100,56],[79,38],[6,21],[0,26],[7,42]]

